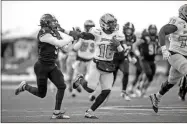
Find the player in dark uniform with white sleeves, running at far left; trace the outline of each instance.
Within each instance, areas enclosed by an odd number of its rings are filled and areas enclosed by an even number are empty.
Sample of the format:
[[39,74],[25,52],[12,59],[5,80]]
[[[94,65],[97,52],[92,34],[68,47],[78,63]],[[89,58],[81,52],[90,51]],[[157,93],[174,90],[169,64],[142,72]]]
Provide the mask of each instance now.
[[[38,39],[38,61],[34,65],[34,72],[37,79],[37,87],[33,87],[22,81],[18,88],[15,90],[15,95],[23,91],[44,98],[47,93],[47,79],[57,87],[55,109],[52,119],[69,119],[64,112],[60,112],[62,100],[66,84],[64,83],[64,76],[58,66],[55,64],[58,51],[60,47],[73,41],[73,37],[62,33],[65,32],[58,23],[55,16],[51,14],[44,14],[40,19],[41,29],[39,30]],[[60,31],[59,31],[60,30]],[[77,32],[66,31],[66,33],[74,35],[78,38]]]

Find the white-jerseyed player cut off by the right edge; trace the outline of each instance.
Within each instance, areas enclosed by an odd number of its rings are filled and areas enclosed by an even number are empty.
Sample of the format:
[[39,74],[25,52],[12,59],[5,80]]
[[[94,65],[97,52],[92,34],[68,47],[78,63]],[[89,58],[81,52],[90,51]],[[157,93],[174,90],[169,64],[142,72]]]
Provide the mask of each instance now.
[[[169,50],[165,46],[165,35],[169,36]],[[161,97],[169,91],[179,80],[187,75],[187,4],[179,8],[179,17],[171,18],[169,24],[163,26],[159,32],[164,59],[171,65],[169,77],[161,86],[157,94],[150,95],[155,112]]]

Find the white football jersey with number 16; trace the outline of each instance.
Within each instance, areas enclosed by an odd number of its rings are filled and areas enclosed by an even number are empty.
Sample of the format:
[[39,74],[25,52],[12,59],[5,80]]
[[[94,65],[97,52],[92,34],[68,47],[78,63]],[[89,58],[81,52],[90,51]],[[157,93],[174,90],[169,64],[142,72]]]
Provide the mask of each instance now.
[[90,33],[95,36],[96,48],[95,48],[95,59],[103,61],[112,61],[114,57],[114,51],[111,49],[111,39],[116,36],[116,39],[124,40],[125,36],[120,34],[118,31],[112,34],[106,34],[101,29],[91,28]]

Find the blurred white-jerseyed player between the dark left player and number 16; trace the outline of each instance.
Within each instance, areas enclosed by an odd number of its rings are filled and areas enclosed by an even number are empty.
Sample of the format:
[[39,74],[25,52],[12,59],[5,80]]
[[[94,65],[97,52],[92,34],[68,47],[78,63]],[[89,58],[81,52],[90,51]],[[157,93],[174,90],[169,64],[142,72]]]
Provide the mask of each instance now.
[[[78,75],[82,75],[83,77],[86,75],[89,70],[89,64],[94,57],[95,38],[92,34],[88,33],[92,27],[95,27],[95,23],[92,20],[86,20],[84,23],[84,32],[81,33],[81,38],[73,46],[73,51],[77,53],[76,61],[73,64],[73,79]],[[80,89],[80,87],[77,89]]]

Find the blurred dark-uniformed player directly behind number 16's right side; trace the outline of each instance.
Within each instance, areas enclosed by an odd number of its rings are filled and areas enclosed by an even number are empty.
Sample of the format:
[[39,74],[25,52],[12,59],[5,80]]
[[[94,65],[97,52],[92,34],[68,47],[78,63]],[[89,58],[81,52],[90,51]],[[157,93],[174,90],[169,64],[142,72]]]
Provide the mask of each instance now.
[[[123,26],[123,34],[125,35],[125,40],[121,42],[123,47],[126,49],[125,53],[127,57],[121,58],[119,56],[119,53],[115,53],[114,55],[114,62],[116,63],[116,70],[114,72],[114,82],[117,77],[118,69],[120,69],[123,72],[123,78],[122,78],[122,92],[121,96],[125,100],[131,100],[128,93],[126,92],[127,85],[128,85],[128,78],[129,78],[129,62],[134,63],[135,65],[138,65],[137,57],[135,56],[133,52],[133,44],[136,42],[136,36],[134,34],[135,28],[134,25],[131,22],[127,22]],[[139,70],[137,69],[137,77],[139,76]],[[135,79],[136,81],[137,79]]]

